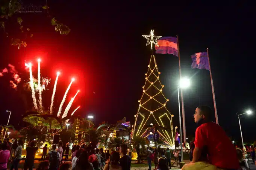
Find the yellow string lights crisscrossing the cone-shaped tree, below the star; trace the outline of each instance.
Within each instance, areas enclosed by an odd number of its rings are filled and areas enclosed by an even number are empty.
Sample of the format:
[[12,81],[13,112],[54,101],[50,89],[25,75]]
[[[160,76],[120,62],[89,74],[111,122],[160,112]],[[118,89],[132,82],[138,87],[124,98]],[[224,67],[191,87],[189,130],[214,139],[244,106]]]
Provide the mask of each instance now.
[[[152,62],[154,62],[155,64],[153,65]],[[154,68],[152,69],[150,67],[154,67]],[[154,70],[156,70],[156,71],[154,71]],[[160,134],[161,140],[163,140],[168,145],[173,146],[174,145],[173,131],[176,132],[176,128],[173,129],[173,125],[172,125],[173,115],[166,108],[166,102],[169,101],[169,99],[165,98],[164,94],[162,93],[162,88],[164,88],[164,85],[162,85],[160,80],[159,80],[159,75],[160,74],[161,74],[161,72],[158,71],[155,56],[151,55],[150,63],[148,65],[148,72],[145,73],[145,75],[147,76],[145,78],[145,85],[142,86],[142,88],[143,88],[142,97],[141,97],[140,100],[138,100],[138,102],[140,104],[139,104],[138,113],[135,115],[135,124],[134,124],[134,127],[133,127],[132,137],[133,136],[143,136],[143,137],[148,136],[149,133],[150,133],[150,131],[148,131],[148,128],[145,131],[144,130],[142,131],[142,129],[143,128],[145,129],[145,124],[148,124],[148,121],[152,122],[152,119],[153,119],[153,121],[156,122],[155,123],[156,125],[159,125],[159,126],[162,126],[162,127],[165,127],[165,128],[170,127],[171,133],[167,132],[166,130],[162,130],[162,129],[158,130],[158,132]],[[151,81],[149,81],[149,79]],[[151,88],[156,89],[156,94],[151,94]],[[161,103],[160,101],[158,101],[157,97],[159,95],[161,95],[165,98],[165,100],[166,100],[165,103]],[[147,96],[149,98],[148,100],[146,99],[147,101],[142,100],[142,98],[145,99]],[[152,100],[152,99],[159,103],[159,107],[155,110],[152,110],[151,107],[146,106],[147,102],[149,100]],[[141,101],[143,101],[143,102],[141,102]],[[141,112],[143,114],[140,113],[140,109],[145,110],[145,111]],[[163,113],[159,114],[159,111],[158,111],[159,109],[162,109],[162,110],[164,109],[165,111]],[[161,112],[162,112],[162,110],[161,110]],[[151,115],[152,115],[152,117],[150,118]],[[159,117],[155,117],[156,115],[159,115]],[[168,122],[162,122],[163,118],[164,118],[164,121],[166,121],[166,120],[169,120],[169,121]],[[139,121],[137,121],[137,119]]]

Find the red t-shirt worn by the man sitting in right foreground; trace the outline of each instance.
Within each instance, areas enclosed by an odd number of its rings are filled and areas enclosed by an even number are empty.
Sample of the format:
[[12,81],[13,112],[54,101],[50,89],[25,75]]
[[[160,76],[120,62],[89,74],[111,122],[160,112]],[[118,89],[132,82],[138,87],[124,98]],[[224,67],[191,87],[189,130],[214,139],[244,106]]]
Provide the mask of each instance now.
[[195,131],[195,147],[207,146],[209,162],[219,168],[238,169],[235,146],[214,122],[201,124]]

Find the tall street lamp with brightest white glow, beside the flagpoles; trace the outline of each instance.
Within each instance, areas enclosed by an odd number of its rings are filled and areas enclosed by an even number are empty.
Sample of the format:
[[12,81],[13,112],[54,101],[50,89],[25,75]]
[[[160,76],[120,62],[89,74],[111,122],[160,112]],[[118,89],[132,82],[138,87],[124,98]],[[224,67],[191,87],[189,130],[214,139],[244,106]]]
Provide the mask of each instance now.
[[[182,142],[182,127],[181,127],[181,116],[180,116],[180,88],[187,88],[190,85],[189,79],[183,78],[180,79],[180,83],[178,86],[178,100],[179,100],[179,122],[180,122],[180,154],[181,154],[181,161],[183,162],[183,142]],[[183,103],[182,103],[183,104]]]

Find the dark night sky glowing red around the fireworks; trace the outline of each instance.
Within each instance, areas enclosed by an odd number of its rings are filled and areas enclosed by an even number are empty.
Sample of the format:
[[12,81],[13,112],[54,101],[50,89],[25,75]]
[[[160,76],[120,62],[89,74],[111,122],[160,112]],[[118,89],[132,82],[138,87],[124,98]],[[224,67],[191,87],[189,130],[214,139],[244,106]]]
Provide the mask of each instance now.
[[[44,3],[39,1],[33,5]],[[23,4],[30,2],[23,1]],[[64,107],[80,89],[71,107],[74,110],[81,106],[77,114],[93,114],[97,125],[103,121],[115,123],[124,116],[133,124],[151,54],[150,46],[145,46],[147,40],[141,35],[154,29],[156,36],[179,34],[182,75],[191,78],[191,87],[183,91],[189,139],[196,128],[195,108],[204,104],[214,109],[209,71],[191,69],[190,57],[209,48],[219,123],[233,140],[241,141],[236,112],[256,111],[253,7],[95,6],[61,0],[48,1],[48,5],[55,18],[71,28],[68,36],[54,31],[51,18],[47,18],[45,12],[21,13],[14,17],[21,16],[24,27],[30,28],[34,35],[27,41],[27,48],[18,50],[17,46],[10,46],[2,31],[0,42],[0,69],[14,65],[23,83],[28,78],[24,61],[33,62],[33,75],[37,77],[36,59],[41,57],[41,75],[52,78],[43,98],[46,107],[50,106],[59,70],[56,108],[70,79],[75,77]],[[13,23],[11,31],[18,27]],[[165,85],[164,94],[170,100],[167,108],[174,114],[173,126],[178,126],[178,58],[168,54],[155,57],[161,72],[160,81]],[[8,120],[5,110],[12,110],[10,124],[20,128],[24,125],[21,114],[26,112],[19,92],[23,87],[11,89],[9,80],[10,76],[0,78],[0,124]],[[252,133],[255,121],[256,113],[241,117],[245,142],[256,140]]]

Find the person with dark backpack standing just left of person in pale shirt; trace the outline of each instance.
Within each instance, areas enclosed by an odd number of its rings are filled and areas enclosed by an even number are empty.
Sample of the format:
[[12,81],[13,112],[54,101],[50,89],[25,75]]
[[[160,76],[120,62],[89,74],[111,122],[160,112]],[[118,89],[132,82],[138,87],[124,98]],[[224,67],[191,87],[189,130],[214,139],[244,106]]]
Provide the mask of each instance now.
[[49,157],[49,170],[58,170],[59,167],[59,159],[61,155],[59,152],[56,151],[57,146],[53,145],[52,146],[52,151],[48,153]]

